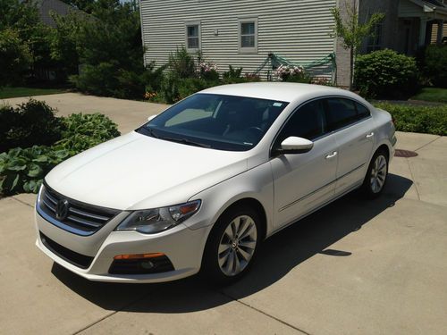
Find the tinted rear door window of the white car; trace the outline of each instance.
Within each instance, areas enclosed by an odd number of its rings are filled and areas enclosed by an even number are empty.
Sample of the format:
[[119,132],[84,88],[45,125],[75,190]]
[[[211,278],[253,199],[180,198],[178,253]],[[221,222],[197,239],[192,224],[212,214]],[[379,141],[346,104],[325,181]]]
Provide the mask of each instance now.
[[352,100],[339,97],[327,99],[329,130],[337,130],[358,120]]

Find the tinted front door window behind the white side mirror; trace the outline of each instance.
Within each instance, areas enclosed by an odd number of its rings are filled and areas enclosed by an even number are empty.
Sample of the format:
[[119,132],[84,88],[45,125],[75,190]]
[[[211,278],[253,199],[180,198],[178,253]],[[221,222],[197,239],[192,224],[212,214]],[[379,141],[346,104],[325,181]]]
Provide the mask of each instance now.
[[324,135],[325,131],[324,104],[321,100],[313,101],[299,107],[299,110],[291,116],[277,142],[279,144],[291,136],[314,139]]

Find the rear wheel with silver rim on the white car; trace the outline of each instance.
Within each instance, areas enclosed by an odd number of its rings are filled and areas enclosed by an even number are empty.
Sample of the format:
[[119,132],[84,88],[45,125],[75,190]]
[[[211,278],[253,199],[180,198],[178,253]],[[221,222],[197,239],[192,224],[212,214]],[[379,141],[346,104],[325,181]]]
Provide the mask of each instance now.
[[375,152],[361,186],[361,191],[365,197],[374,199],[384,191],[388,177],[388,160],[388,153],[385,150],[381,149]]

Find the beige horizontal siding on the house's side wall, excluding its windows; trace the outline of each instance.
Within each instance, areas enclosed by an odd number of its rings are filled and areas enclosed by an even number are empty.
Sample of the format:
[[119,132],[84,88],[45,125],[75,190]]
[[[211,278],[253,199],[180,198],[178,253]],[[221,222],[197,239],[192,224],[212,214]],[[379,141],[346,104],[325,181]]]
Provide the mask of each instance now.
[[[256,71],[267,54],[291,62],[312,62],[333,53],[330,8],[336,0],[141,0],[145,61],[167,63],[177,46],[185,45],[185,23],[200,21],[201,50],[219,71],[228,65]],[[239,19],[257,18],[257,53],[239,52]],[[215,36],[218,29],[218,36]],[[330,75],[330,71],[319,71]]]

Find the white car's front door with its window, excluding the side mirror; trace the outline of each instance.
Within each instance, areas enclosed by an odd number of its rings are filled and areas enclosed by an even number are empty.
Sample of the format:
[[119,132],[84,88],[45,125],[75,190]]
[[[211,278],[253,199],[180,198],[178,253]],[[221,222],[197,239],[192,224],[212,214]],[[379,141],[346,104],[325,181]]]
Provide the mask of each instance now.
[[302,105],[285,122],[274,140],[296,136],[314,142],[305,154],[278,155],[270,161],[274,178],[274,224],[280,228],[314,210],[333,197],[337,144],[328,134],[322,100]]

